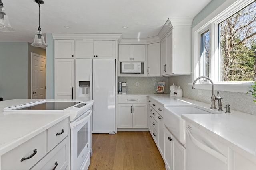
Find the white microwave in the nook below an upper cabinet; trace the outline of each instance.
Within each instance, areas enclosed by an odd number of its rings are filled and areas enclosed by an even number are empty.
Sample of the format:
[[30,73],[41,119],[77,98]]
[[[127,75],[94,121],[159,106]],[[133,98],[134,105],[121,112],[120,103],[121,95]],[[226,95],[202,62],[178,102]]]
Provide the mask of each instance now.
[[141,73],[141,62],[122,62],[121,73]]

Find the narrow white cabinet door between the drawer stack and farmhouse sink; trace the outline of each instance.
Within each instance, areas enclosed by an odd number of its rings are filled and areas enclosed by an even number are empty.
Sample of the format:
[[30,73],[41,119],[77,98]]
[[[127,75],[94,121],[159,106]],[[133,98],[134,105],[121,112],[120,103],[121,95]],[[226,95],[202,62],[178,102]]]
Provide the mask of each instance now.
[[158,150],[164,158],[164,119],[158,115]]

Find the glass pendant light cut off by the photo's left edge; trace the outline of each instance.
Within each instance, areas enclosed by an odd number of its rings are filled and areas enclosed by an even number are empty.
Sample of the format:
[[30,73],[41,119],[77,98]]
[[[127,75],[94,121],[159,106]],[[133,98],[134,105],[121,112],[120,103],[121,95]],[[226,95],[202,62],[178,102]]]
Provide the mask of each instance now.
[[4,4],[0,0],[0,31],[2,32],[12,32],[14,29],[10,25],[8,16],[4,12]]

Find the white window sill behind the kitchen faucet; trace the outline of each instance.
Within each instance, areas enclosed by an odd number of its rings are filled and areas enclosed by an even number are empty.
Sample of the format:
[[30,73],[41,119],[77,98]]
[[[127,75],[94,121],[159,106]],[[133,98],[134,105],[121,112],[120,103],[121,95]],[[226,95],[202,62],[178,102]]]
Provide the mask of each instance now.
[[[192,85],[193,83],[188,83]],[[226,92],[248,92],[248,88],[251,86],[252,82],[216,82],[214,83],[214,90],[226,91]],[[195,84],[196,89],[212,90],[212,84]]]

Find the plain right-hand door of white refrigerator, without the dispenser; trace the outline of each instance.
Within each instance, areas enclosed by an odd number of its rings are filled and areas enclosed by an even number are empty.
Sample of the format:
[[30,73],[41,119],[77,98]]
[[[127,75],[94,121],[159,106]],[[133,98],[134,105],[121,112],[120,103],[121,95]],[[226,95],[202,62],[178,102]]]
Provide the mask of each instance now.
[[92,131],[115,131],[115,60],[94,59]]

